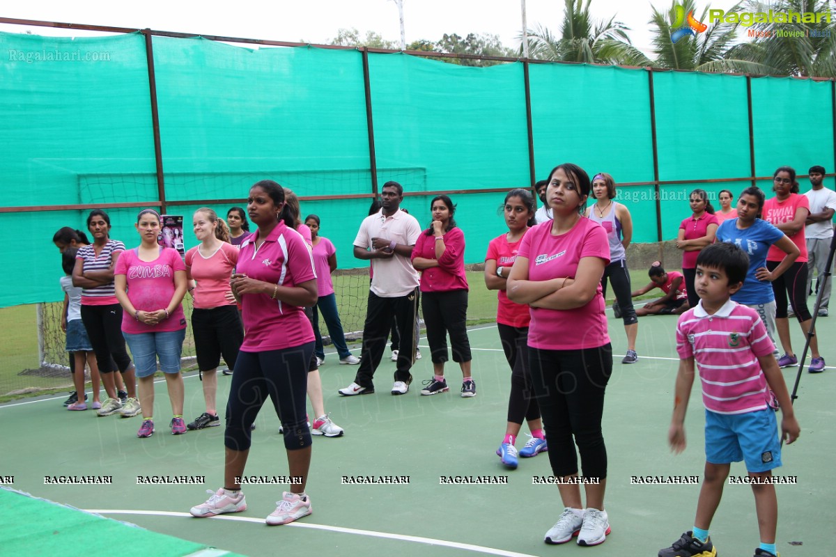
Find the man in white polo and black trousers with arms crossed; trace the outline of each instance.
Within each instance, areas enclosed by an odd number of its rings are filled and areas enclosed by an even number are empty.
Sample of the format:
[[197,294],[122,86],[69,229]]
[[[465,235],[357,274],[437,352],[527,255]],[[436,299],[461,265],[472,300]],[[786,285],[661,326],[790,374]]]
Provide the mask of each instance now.
[[410,256],[421,225],[415,217],[400,210],[404,189],[397,182],[386,182],[380,193],[381,208],[360,225],[354,239],[354,257],[371,261],[371,287],[363,327],[363,353],[354,382],[339,389],[351,397],[375,392],[372,378],[386,348],[392,316],[400,331],[397,369],[392,394],[410,390],[415,362],[415,314],[418,311],[418,271]]

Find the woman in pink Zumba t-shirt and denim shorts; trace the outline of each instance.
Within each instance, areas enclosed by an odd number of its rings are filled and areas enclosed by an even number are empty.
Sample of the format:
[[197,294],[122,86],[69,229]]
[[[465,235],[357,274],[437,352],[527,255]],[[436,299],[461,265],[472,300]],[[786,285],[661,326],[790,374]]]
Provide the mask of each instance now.
[[147,438],[154,433],[154,374],[157,357],[166,376],[171,402],[171,433],[186,433],[183,422],[183,377],[180,356],[186,338],[186,266],[173,248],[157,243],[160,215],[153,209],[140,211],[136,220],[140,246],[123,251],[116,261],[114,279],[116,298],[125,310],[122,332],[134,356],[137,390],[142,407],[142,425],[136,437]]

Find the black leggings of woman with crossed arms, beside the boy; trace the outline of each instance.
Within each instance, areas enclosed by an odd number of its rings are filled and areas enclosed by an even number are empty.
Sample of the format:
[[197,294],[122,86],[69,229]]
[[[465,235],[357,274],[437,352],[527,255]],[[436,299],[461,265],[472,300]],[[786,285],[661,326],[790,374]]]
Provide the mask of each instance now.
[[606,478],[607,448],[601,418],[604,390],[613,371],[609,342],[579,350],[528,347],[528,362],[543,413],[553,474],[562,477],[578,472],[577,443],[584,478]]

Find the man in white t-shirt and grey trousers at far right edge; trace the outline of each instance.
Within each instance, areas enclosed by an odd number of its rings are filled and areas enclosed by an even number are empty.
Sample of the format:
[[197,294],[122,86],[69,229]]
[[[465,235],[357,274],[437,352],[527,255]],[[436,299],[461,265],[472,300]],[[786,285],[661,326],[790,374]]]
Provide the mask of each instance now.
[[[810,184],[813,189],[805,192],[810,202],[810,214],[804,223],[804,234],[807,236],[807,290],[813,285],[813,269],[818,271],[816,290],[823,288],[822,301],[818,307],[818,316],[828,316],[830,303],[830,283],[824,281],[825,266],[828,262],[830,242],[833,239],[833,210],[836,210],[836,191],[824,187],[824,167],[811,166],[808,171]],[[812,309],[812,308],[811,308]]]

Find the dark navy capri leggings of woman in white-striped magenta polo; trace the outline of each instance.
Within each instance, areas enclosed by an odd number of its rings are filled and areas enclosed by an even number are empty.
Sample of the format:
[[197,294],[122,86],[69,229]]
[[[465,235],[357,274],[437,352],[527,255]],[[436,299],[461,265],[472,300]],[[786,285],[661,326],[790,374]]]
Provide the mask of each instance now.
[[227,401],[223,444],[246,451],[252,443],[250,426],[269,396],[284,428],[284,447],[292,451],[311,445],[305,416],[308,363],[314,342],[265,352],[238,352]]

